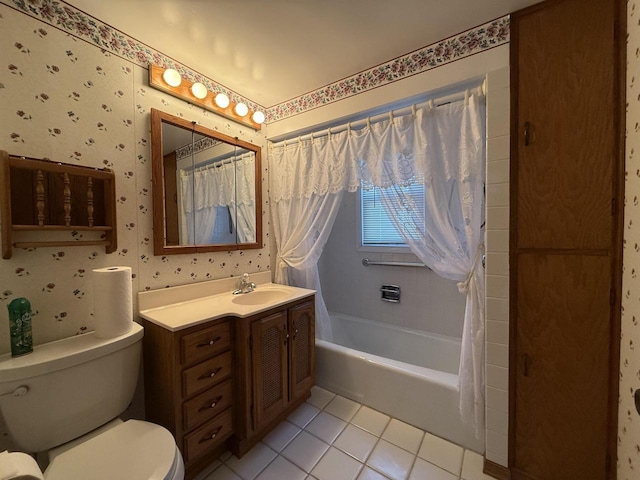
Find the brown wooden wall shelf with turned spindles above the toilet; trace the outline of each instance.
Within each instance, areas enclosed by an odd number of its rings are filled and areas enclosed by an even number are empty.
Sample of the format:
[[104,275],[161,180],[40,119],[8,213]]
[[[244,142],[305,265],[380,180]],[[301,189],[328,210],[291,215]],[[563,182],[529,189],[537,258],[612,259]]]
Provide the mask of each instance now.
[[[18,157],[0,150],[0,224],[2,258],[13,247],[104,245],[117,249],[115,176],[97,169]],[[99,239],[24,240],[19,232],[97,232]]]

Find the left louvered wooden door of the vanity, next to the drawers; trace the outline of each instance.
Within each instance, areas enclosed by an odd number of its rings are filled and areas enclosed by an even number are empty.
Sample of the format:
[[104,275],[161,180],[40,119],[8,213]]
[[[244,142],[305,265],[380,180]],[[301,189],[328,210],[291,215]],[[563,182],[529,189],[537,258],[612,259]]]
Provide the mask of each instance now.
[[282,412],[288,399],[287,312],[251,324],[254,431]]

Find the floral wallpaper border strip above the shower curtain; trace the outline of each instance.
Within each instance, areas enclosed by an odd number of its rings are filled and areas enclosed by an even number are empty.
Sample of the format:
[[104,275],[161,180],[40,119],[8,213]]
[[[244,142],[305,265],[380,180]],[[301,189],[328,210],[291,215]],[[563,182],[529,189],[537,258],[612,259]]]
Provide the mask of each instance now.
[[267,109],[275,122],[509,43],[510,17],[500,17]]

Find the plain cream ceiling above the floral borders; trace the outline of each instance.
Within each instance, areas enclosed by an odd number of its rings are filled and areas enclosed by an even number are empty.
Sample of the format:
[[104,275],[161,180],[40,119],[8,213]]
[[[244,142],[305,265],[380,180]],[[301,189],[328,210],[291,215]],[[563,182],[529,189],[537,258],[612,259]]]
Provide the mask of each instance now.
[[67,0],[271,107],[540,0]]

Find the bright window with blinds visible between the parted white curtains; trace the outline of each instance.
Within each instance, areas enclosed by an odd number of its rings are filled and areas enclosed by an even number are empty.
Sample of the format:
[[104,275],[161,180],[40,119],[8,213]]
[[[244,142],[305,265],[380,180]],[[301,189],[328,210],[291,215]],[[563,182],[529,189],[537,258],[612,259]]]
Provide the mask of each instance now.
[[[409,195],[415,205],[422,210],[424,218],[424,185],[413,184],[399,187]],[[363,247],[391,247],[406,248],[402,235],[396,228],[395,222],[389,218],[382,203],[380,188],[370,190],[360,189],[360,221],[361,246]]]

